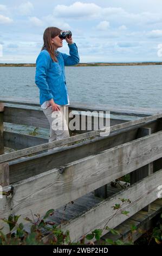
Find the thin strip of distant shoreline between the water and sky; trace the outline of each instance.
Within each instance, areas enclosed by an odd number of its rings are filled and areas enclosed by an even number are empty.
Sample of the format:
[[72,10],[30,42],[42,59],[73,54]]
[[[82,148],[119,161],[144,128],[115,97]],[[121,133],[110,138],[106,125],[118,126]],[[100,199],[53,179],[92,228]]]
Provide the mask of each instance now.
[[[144,66],[144,65],[162,65],[162,62],[125,62],[125,63],[79,63],[75,66]],[[0,67],[24,66],[35,67],[35,63],[0,63]]]

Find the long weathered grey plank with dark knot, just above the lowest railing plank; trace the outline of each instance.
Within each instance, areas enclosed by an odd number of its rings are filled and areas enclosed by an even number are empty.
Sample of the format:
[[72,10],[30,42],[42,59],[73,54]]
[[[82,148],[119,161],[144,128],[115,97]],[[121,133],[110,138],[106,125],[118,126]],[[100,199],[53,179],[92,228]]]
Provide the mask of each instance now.
[[[43,201],[47,203],[52,200],[54,207],[59,208],[61,205],[157,159],[162,153],[161,144],[162,132],[158,132],[103,151],[99,155],[75,161],[66,167],[33,176],[14,184],[13,204],[14,202],[16,205],[18,204],[15,206],[16,209],[17,207],[22,209],[24,208],[24,202],[31,207],[33,203],[35,205],[36,202],[39,202],[38,205],[41,205]],[[44,170],[46,170],[46,167],[44,167]],[[154,184],[153,177],[156,176],[151,176]],[[37,189],[39,193],[36,192]],[[23,198],[18,200],[16,198],[19,193],[23,194]],[[49,200],[46,200],[46,197]]]

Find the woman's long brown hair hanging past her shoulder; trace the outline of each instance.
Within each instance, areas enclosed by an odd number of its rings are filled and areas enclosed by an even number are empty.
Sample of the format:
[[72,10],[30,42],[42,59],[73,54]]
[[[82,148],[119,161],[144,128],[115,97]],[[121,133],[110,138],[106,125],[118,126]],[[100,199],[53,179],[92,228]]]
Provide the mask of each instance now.
[[45,29],[43,34],[43,47],[42,50],[46,49],[50,57],[54,60],[54,62],[57,62],[56,54],[55,54],[55,47],[54,44],[51,43],[51,39],[55,38],[55,36],[60,35],[61,29],[56,27],[48,27]]

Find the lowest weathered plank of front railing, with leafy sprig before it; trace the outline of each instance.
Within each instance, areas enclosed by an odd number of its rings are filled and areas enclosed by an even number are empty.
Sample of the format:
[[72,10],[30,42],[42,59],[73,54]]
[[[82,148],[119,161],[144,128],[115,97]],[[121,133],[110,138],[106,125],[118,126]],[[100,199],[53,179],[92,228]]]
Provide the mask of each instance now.
[[[157,175],[156,178],[155,175]],[[146,177],[142,181],[137,182],[125,191],[119,192],[111,199],[104,200],[95,208],[89,210],[75,220],[70,221],[70,223],[62,225],[62,229],[69,230],[72,241],[77,241],[82,235],[86,235],[94,229],[102,229],[106,227],[106,225],[108,225],[109,228],[115,228],[140,209],[144,208],[144,206],[157,199],[157,185],[161,182],[158,179],[161,178],[162,172],[160,170],[157,173]],[[116,203],[121,203],[119,198],[129,198],[129,200],[131,200],[130,204],[121,206],[122,211],[129,211],[128,216],[120,214],[114,216],[112,206]]]

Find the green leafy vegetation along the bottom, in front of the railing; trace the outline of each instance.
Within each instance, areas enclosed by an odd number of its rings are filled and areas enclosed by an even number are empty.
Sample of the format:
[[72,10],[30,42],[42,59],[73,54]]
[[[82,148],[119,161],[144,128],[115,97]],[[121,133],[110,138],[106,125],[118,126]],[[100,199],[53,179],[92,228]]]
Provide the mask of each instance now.
[[[112,218],[118,214],[128,215],[128,211],[122,211],[123,204],[129,204],[131,201],[129,199],[119,198],[121,204],[115,204],[112,206],[114,210],[114,215]],[[61,226],[56,225],[56,223],[50,220],[50,217],[54,215],[54,210],[51,209],[46,212],[44,217],[40,215],[33,216],[33,220],[25,218],[29,222],[30,231],[24,227],[23,223],[18,224],[18,219],[20,216],[10,215],[7,219],[3,219],[5,223],[9,225],[10,232],[8,234],[3,233],[3,228],[0,230],[0,245],[162,245],[162,214],[159,218],[157,227],[155,227],[151,232],[148,231],[135,243],[133,243],[132,236],[129,236],[129,240],[124,242],[122,239],[106,239],[101,240],[103,230],[106,229],[110,231],[113,235],[120,235],[120,233],[108,227],[108,222],[112,220],[110,218],[105,224],[103,229],[95,229],[92,233],[83,236],[78,242],[72,242],[70,240],[69,231],[62,231]],[[28,228],[29,229],[29,228]],[[137,227],[131,227],[132,235],[137,231]]]

